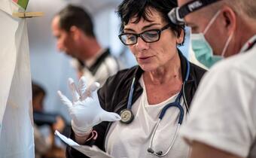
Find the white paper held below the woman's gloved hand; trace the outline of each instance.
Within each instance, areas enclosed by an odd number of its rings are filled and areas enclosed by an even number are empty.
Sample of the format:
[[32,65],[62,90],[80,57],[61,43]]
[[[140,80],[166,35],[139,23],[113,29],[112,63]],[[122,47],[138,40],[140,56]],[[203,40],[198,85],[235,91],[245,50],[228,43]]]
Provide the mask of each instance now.
[[96,147],[95,145],[93,145],[93,147],[87,145],[80,145],[72,139],[66,138],[66,136],[60,134],[58,131],[55,131],[55,135],[57,135],[62,141],[66,142],[66,144],[69,144],[69,146],[75,148],[81,153],[84,153],[84,155],[86,156],[90,156],[91,158],[114,158],[108,155],[108,153],[100,150],[99,147]]

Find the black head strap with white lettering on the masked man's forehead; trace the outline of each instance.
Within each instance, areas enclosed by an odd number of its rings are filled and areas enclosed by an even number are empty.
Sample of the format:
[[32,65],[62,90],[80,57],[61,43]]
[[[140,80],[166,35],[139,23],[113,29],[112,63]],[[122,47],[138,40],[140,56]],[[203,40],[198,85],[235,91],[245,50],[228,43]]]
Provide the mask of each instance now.
[[187,14],[190,14],[191,12],[197,11],[200,8],[206,7],[207,5],[218,1],[220,0],[195,0],[188,2],[178,9],[179,17],[184,18]]

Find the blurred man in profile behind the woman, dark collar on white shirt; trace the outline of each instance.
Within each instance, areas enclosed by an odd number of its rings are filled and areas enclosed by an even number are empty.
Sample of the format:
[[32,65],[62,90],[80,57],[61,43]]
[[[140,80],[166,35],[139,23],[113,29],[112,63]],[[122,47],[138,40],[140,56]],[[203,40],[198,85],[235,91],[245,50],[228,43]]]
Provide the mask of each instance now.
[[120,70],[120,62],[108,48],[102,48],[93,31],[93,21],[83,8],[68,5],[53,17],[52,32],[57,48],[78,59],[78,72],[90,85],[94,81],[104,84],[108,76]]

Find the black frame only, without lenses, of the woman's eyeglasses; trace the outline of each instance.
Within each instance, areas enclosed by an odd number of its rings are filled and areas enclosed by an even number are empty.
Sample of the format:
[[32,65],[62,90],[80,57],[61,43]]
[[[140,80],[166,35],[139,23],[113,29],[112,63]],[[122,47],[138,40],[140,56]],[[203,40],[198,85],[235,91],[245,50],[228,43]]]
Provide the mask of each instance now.
[[[121,33],[120,35],[118,35],[118,38],[120,39],[120,41],[121,41],[124,45],[133,45],[133,44],[126,44],[126,43],[124,43],[124,42],[122,41],[122,35],[135,35],[135,36],[136,36],[136,42],[135,42],[134,44],[136,44],[136,43],[138,42],[138,38],[139,38],[139,37],[142,38],[142,40],[145,41],[146,43],[154,43],[154,42],[160,40],[161,33],[163,32],[163,30],[168,29],[169,26],[171,26],[171,23],[168,23],[166,26],[163,26],[162,29],[149,29],[149,30],[146,30],[146,31],[141,32],[141,33],[139,33],[139,34],[136,34],[136,33],[124,33],[124,32],[123,32],[123,33]],[[146,41],[146,40],[143,38],[142,35],[143,35],[145,32],[152,32],[152,31],[156,31],[156,32],[157,32],[157,35],[158,35],[157,40],[156,40],[156,41]]]

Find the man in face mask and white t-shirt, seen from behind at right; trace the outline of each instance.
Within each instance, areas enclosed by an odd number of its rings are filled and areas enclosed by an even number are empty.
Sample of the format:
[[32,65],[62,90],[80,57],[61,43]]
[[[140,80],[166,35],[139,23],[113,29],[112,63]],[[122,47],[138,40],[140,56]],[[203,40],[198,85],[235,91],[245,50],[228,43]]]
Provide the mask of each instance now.
[[228,58],[203,78],[181,128],[191,157],[256,157],[256,1],[178,0],[178,6],[172,21],[183,19],[202,47]]

